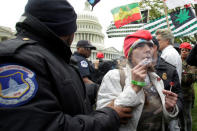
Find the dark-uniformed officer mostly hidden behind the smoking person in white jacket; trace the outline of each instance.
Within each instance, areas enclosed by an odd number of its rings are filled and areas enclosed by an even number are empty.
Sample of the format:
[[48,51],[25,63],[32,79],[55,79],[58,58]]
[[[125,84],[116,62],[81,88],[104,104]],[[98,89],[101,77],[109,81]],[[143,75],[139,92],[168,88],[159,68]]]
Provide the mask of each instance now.
[[[163,58],[160,57],[161,53],[159,52],[159,43],[155,37],[153,37],[152,40],[154,43],[153,47],[155,50],[154,61],[156,62],[155,63],[156,73],[163,80],[164,88],[166,90],[171,89],[172,92],[178,94],[177,106],[178,106],[179,112],[181,112],[181,110],[183,109],[183,94],[182,94],[180,80],[178,77],[176,67],[169,64]],[[166,131],[169,130],[167,127],[165,129]]]

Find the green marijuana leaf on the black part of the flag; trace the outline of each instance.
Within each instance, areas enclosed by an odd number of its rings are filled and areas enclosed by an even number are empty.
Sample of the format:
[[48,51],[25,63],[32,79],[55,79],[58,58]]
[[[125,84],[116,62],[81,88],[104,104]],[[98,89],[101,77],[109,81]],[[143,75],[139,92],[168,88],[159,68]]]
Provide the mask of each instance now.
[[180,13],[176,15],[178,17],[178,19],[176,19],[176,22],[178,21],[179,24],[182,24],[185,21],[187,21],[190,18],[188,14],[189,14],[189,10],[188,11],[186,11],[186,9],[181,10]]

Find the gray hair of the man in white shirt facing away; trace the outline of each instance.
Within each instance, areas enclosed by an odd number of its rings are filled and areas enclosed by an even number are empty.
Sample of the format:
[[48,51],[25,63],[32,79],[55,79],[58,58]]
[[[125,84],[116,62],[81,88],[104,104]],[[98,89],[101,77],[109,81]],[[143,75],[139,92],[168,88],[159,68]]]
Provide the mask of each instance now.
[[171,44],[171,45],[174,44],[174,36],[169,29],[158,29],[156,31],[156,35],[160,35],[162,37],[162,39],[168,40],[169,44]]

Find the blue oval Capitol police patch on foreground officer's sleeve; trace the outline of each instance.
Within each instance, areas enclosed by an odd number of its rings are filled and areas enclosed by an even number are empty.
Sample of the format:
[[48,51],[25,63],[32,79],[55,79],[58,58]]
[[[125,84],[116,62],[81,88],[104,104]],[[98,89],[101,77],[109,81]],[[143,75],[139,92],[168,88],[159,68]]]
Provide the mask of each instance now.
[[23,105],[37,89],[34,72],[21,65],[0,64],[0,107]]

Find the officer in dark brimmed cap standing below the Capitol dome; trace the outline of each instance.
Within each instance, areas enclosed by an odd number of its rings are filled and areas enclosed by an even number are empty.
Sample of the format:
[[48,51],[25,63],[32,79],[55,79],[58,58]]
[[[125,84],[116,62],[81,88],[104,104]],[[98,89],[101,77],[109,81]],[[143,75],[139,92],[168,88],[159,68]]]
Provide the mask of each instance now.
[[91,45],[87,40],[77,42],[77,51],[71,56],[71,63],[76,67],[85,83],[87,95],[92,106],[96,103],[97,92],[99,85],[95,83],[95,69],[93,64],[87,58],[91,55],[91,50],[96,50],[96,47]]

